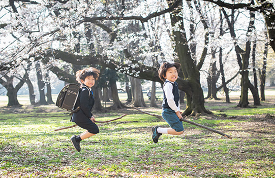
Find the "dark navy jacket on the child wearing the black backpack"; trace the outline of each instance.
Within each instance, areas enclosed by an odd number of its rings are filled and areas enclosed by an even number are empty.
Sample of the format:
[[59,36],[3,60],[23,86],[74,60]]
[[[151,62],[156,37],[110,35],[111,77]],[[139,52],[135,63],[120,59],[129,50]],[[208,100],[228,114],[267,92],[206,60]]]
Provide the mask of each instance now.
[[[90,93],[90,94],[89,94]],[[86,122],[89,120],[93,114],[91,114],[91,109],[95,104],[95,99],[93,92],[90,91],[87,87],[82,87],[79,96],[77,98],[75,108],[80,106],[80,110],[72,115],[72,122]]]

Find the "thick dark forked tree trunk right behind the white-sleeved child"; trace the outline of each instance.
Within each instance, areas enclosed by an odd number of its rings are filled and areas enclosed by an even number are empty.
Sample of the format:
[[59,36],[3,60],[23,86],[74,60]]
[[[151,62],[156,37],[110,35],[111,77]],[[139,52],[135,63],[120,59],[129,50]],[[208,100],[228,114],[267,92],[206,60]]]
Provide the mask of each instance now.
[[[171,6],[173,2],[167,1],[168,6]],[[182,115],[192,115],[197,114],[210,114],[204,107],[204,97],[203,91],[200,85],[200,73],[199,69],[205,59],[207,48],[203,49],[201,62],[196,66],[194,60],[191,57],[190,49],[187,44],[186,30],[184,27],[184,19],[182,18],[182,1],[180,5],[172,13],[170,13],[170,19],[173,29],[173,39],[175,41],[175,48],[178,54],[179,62],[181,64],[182,72],[184,73],[184,78],[187,80],[188,86],[179,86],[180,90],[186,92],[187,98],[187,108]],[[208,43],[208,32],[205,33],[205,43]],[[180,80],[177,80],[181,82]],[[188,89],[189,88],[189,89]]]

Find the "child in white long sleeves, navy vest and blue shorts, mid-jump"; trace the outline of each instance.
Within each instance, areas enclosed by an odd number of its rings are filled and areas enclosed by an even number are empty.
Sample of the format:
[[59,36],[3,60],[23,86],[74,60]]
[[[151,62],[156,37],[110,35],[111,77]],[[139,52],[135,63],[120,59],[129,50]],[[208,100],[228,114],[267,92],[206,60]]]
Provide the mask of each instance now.
[[178,78],[179,63],[163,63],[159,68],[159,78],[163,84],[162,117],[170,125],[170,128],[159,126],[152,127],[152,139],[158,143],[159,137],[163,134],[180,135],[184,133],[182,116],[179,111],[179,94],[176,80]]

